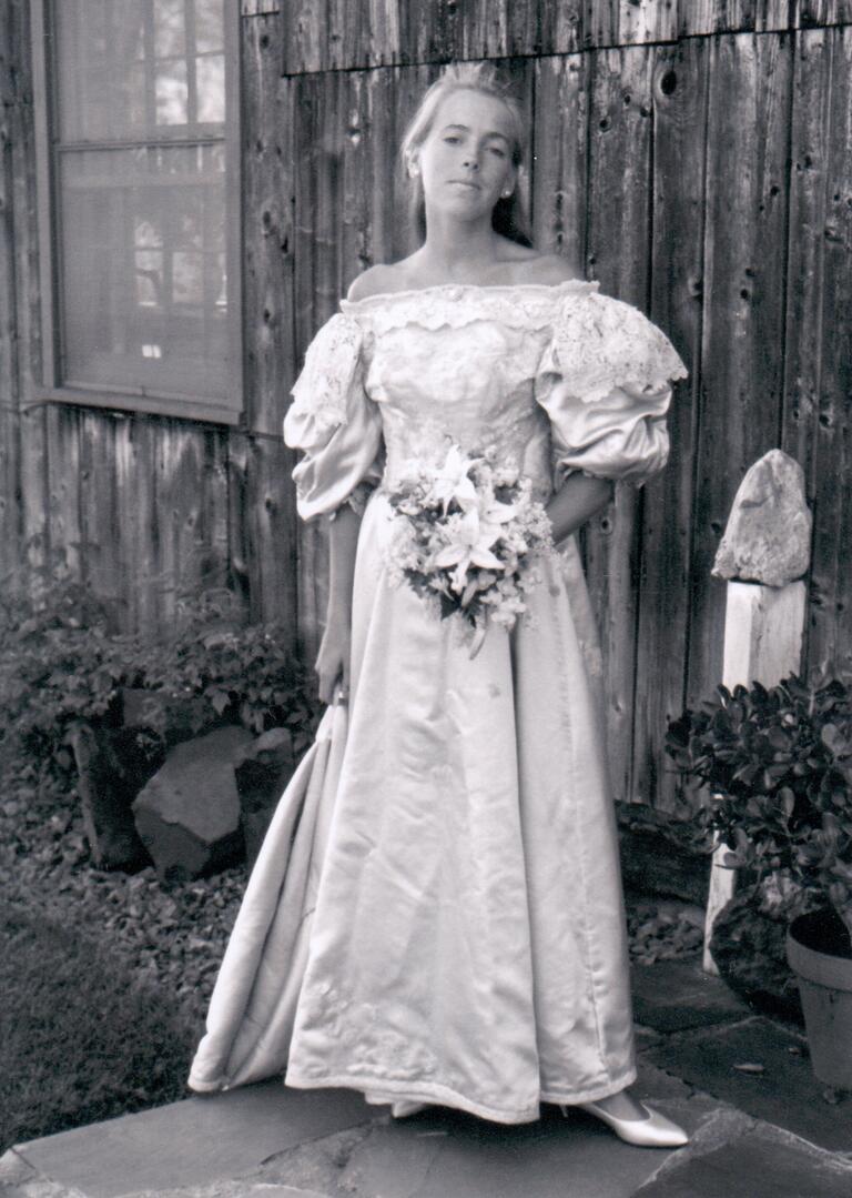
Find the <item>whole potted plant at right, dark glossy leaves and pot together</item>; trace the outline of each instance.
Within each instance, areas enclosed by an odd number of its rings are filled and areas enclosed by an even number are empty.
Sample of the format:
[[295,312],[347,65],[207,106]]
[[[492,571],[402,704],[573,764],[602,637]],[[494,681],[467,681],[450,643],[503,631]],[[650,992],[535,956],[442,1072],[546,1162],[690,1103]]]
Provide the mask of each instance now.
[[718,686],[670,722],[667,750],[710,788],[699,818],[729,846],[724,864],[787,921],[814,1072],[852,1089],[852,692],[796,674]]

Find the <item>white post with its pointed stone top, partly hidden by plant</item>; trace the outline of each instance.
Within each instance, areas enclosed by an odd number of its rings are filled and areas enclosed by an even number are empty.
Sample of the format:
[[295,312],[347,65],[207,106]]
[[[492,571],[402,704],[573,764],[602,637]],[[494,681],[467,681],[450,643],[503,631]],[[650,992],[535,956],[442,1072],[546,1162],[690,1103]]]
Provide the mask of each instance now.
[[[729,690],[755,682],[775,686],[799,671],[807,605],[801,576],[810,536],[802,467],[771,449],[740,484],[713,564],[713,574],[728,579],[722,682]],[[736,870],[723,865],[728,852],[717,836],[704,925],[704,969],[711,974],[718,974],[710,955],[713,924],[736,888]]]

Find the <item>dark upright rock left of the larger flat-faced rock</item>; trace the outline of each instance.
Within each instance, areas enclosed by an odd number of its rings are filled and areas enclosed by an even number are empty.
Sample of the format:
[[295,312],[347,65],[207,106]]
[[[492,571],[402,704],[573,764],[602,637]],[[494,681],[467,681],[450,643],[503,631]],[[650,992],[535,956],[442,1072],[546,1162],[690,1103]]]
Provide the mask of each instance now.
[[145,730],[93,728],[84,722],[73,726],[69,739],[92,861],[108,870],[145,864],[132,804],[163,762],[160,745]]

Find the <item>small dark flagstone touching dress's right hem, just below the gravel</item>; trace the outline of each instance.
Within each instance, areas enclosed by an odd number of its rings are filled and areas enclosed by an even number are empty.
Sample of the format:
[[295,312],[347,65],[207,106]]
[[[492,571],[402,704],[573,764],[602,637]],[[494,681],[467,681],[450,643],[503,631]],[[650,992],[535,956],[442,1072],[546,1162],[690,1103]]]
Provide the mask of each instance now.
[[730,1023],[751,1014],[719,978],[704,973],[698,957],[633,966],[631,985],[637,1022],[657,1031]]

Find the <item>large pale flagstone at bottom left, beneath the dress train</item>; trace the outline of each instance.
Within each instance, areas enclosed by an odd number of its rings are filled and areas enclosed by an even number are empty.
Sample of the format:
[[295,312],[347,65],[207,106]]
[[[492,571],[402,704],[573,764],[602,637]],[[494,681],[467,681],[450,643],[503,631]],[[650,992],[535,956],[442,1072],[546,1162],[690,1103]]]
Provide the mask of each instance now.
[[282,1149],[376,1115],[352,1090],[292,1090],[279,1081],[184,1099],[16,1144],[41,1175],[118,1198],[232,1179]]

